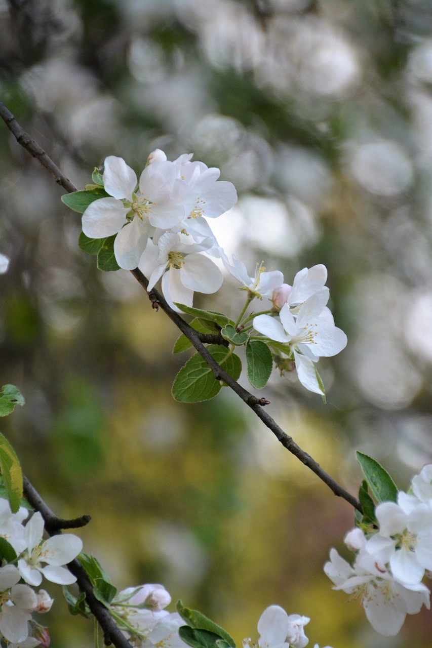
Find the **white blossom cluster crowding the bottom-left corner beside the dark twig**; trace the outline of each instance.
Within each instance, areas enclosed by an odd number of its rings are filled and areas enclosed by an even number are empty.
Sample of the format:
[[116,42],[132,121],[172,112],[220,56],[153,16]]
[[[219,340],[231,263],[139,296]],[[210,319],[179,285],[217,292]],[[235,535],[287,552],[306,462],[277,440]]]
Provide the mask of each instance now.
[[7,500],[0,498],[0,538],[3,560],[0,567],[0,638],[9,648],[49,645],[47,630],[32,619],[33,612],[48,612],[53,599],[45,590],[35,590],[42,577],[52,583],[75,583],[75,576],[63,565],[82,549],[80,538],[66,533],[43,540],[43,519],[21,507],[11,513]]

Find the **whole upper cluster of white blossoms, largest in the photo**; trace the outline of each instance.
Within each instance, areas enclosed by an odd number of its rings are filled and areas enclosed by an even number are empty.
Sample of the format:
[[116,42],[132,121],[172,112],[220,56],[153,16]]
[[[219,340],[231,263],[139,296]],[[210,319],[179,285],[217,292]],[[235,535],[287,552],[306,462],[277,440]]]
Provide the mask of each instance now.
[[[116,235],[114,254],[121,268],[137,266],[150,278],[149,290],[162,277],[169,305],[192,305],[193,292],[213,293],[222,275],[207,256],[219,246],[206,218],[217,218],[237,201],[234,185],[218,181],[218,168],[174,162],[156,149],[138,178],[121,157],[108,156],[102,175],[109,197],[92,202],[82,215],[90,238]],[[204,218],[206,216],[206,218]]]

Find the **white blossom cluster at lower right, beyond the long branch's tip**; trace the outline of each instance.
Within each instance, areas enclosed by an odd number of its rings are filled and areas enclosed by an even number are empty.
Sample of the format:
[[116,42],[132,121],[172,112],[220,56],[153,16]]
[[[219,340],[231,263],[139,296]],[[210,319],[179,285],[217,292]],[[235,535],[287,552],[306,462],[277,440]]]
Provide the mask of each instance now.
[[356,554],[353,566],[332,549],[324,572],[335,590],[363,603],[377,632],[394,636],[407,614],[430,607],[422,579],[432,570],[432,464],[413,478],[408,492],[398,492],[397,502],[380,503],[375,515],[378,529],[355,527],[345,537]]

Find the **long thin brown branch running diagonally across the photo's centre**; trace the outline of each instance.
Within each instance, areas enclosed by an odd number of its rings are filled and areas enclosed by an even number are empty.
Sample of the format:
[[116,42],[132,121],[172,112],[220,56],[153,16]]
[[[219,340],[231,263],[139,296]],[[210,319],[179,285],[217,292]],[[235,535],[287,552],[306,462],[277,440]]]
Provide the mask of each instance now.
[[[67,192],[71,193],[73,191],[77,191],[77,188],[74,187],[74,185],[62,174],[60,169],[56,167],[54,162],[47,156],[45,151],[36,144],[32,139],[30,139],[29,135],[23,131],[21,126],[19,126],[18,122],[16,121],[14,115],[8,111],[8,109],[3,106],[3,104],[0,102],[0,117],[3,118],[3,120],[6,122],[6,126],[11,130],[11,132],[15,135],[17,141],[21,146],[26,148],[30,155],[36,157],[41,164],[45,168],[49,170],[55,181],[64,187]],[[18,134],[17,134],[18,133]],[[147,290],[147,286],[149,285],[149,281],[147,281],[146,277],[143,275],[143,273],[138,269],[135,268],[135,270],[131,270],[132,275],[136,278],[138,283],[144,288],[144,290],[147,292],[149,295],[149,299],[152,302],[152,307],[154,310],[158,310],[158,308],[162,308],[163,312],[167,314],[167,316],[174,322],[176,327],[182,331],[182,333],[185,334],[187,339],[191,341],[195,349],[197,349],[198,353],[204,358],[205,362],[208,364],[210,367],[211,371],[213,371],[213,374],[215,375],[216,380],[223,380],[228,387],[230,387],[236,394],[243,400],[246,405],[248,405],[251,410],[253,410],[256,415],[258,416],[261,421],[273,432],[273,434],[276,436],[278,441],[282,443],[284,448],[287,448],[289,452],[294,454],[304,465],[306,465],[312,472],[315,472],[315,474],[320,478],[320,480],[324,481],[326,485],[333,491],[333,493],[339,497],[342,497],[346,502],[350,503],[357,511],[360,511],[362,513],[362,508],[359,500],[355,498],[352,494],[350,494],[348,491],[346,491],[337,481],[333,480],[330,475],[323,470],[319,463],[315,461],[307,452],[302,450],[300,446],[298,446],[295,441],[293,440],[292,437],[290,437],[286,432],[283,432],[282,428],[278,426],[276,421],[272,419],[272,417],[267,414],[266,411],[263,410],[262,405],[266,404],[267,401],[263,399],[258,399],[256,396],[251,394],[249,391],[247,391],[245,388],[243,388],[239,383],[234,380],[222,367],[217,364],[213,356],[207,351],[206,347],[204,347],[203,342],[206,342],[207,340],[203,339],[202,334],[198,333],[196,330],[192,329],[192,327],[189,326],[189,324],[184,321],[180,317],[178,313],[176,313],[171,307],[169,307],[167,301],[163,298],[163,296],[154,288],[150,290],[150,292]]]

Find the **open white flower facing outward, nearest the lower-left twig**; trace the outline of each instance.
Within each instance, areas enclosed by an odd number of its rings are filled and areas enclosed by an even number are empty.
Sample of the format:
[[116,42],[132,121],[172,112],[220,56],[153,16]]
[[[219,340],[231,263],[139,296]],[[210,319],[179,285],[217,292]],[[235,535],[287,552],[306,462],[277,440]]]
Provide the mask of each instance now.
[[[25,526],[27,549],[21,553],[18,570],[26,583],[40,585],[42,574],[51,583],[70,585],[77,580],[62,565],[73,561],[82,550],[82,540],[71,533],[42,539],[43,518],[34,513]],[[46,566],[42,563],[46,562]]]

